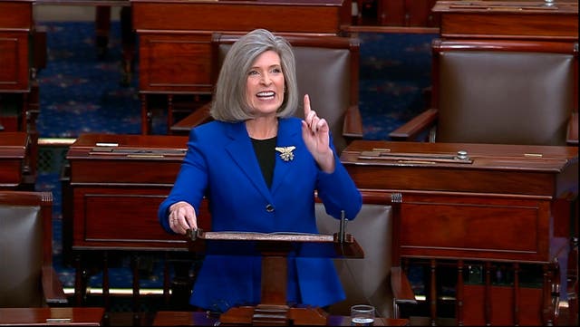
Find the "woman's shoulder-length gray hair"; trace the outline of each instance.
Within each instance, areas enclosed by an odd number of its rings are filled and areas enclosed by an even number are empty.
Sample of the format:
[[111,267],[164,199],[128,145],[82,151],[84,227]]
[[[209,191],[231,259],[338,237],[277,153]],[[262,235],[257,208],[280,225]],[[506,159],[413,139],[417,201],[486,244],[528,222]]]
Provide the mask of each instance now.
[[254,118],[246,98],[247,72],[260,54],[270,50],[280,56],[285,79],[284,101],[276,116],[294,115],[298,106],[298,86],[292,45],[282,36],[256,29],[240,37],[226,54],[209,111],[214,120],[238,122]]

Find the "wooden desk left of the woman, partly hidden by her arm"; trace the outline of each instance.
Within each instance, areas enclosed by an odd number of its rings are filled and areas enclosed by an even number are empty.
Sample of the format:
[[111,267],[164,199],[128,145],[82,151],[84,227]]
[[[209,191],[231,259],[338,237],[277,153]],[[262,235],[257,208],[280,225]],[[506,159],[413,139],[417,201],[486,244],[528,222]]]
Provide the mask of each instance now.
[[[71,145],[66,156],[69,181],[63,183],[63,252],[74,255],[77,303],[82,303],[86,291],[82,256],[103,254],[106,261],[107,255],[124,253],[136,261],[144,253],[161,252],[168,255],[166,261],[195,259],[186,236],[169,235],[157,217],[177,177],[186,143],[182,136],[83,134]],[[104,275],[107,269],[103,262]],[[133,264],[132,272],[138,281],[138,264]],[[170,282],[165,277],[163,292],[169,302]],[[108,289],[104,278],[105,296]],[[136,311],[139,296],[139,283],[134,283]]]

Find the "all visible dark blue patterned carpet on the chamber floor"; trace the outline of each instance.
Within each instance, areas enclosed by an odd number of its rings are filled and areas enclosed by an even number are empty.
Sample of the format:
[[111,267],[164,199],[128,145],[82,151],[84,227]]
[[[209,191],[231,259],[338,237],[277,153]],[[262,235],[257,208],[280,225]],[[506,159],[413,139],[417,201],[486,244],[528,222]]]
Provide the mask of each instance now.
[[[97,60],[94,24],[42,22],[47,28],[47,66],[39,73],[41,138],[76,138],[83,132],[140,133],[139,72],[121,87],[121,26],[111,22],[106,58]],[[430,42],[436,34],[362,33],[360,110],[365,139],[388,139],[391,130],[423,110],[423,90],[430,85]],[[153,133],[167,130],[164,117],[153,121]],[[38,190],[54,197],[55,266],[63,283],[73,286],[71,267],[62,264],[60,170],[66,149],[40,149]],[[111,270],[111,287],[131,287],[127,268]],[[159,286],[153,265],[141,287]],[[92,277],[99,285],[101,276]]]

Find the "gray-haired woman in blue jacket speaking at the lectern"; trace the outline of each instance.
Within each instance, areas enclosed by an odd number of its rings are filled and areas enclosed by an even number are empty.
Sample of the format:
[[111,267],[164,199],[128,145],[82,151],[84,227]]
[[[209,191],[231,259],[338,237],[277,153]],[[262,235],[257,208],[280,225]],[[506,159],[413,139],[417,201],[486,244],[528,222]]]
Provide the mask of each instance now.
[[[160,224],[170,233],[198,228],[208,198],[213,231],[318,233],[315,194],[326,212],[353,219],[362,197],[333,148],[329,126],[304,96],[299,105],[295,57],[280,36],[257,29],[242,36],[222,65],[210,110],[213,121],[193,128],[188,152]],[[190,303],[225,312],[260,303],[261,257],[206,255]],[[288,303],[326,306],[345,296],[333,261],[292,256]]]

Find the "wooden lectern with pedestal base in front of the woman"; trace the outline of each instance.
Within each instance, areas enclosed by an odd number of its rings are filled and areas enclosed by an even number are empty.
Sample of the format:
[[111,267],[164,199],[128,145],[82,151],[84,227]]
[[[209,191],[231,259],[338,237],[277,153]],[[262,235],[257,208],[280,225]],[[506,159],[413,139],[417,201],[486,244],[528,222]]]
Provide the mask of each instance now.
[[[204,232],[198,229],[189,231],[192,241],[205,243],[218,241],[231,243],[236,249],[238,242],[255,245],[256,253],[262,258],[262,293],[256,306],[244,305],[230,308],[219,316],[219,322],[226,325],[326,325],[328,314],[319,307],[289,306],[286,301],[287,255],[304,243],[317,244],[331,250],[336,257],[362,258],[361,246],[350,234],[341,228],[334,235],[285,234],[285,233],[245,233],[245,232]],[[227,247],[227,246],[226,246]],[[233,251],[237,253],[237,251]],[[241,254],[244,255],[244,254]],[[281,278],[282,277],[282,278]]]

